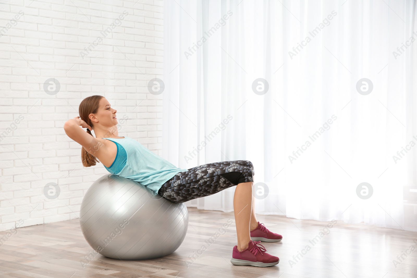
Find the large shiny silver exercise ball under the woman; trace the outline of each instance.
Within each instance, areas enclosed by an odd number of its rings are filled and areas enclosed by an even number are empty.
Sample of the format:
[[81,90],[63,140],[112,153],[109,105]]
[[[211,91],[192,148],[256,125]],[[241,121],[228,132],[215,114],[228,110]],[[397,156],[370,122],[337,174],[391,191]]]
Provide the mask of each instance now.
[[81,231],[101,255],[126,260],[163,257],[183,242],[188,210],[128,178],[108,174],[88,188],[80,208]]

